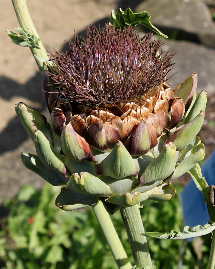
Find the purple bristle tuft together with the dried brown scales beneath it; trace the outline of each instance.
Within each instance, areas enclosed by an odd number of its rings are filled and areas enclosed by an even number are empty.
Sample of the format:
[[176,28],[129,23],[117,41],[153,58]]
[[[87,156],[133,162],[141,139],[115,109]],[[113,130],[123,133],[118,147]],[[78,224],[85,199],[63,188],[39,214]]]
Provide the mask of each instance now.
[[62,111],[50,117],[58,136],[66,122],[91,148],[111,151],[121,140],[132,156],[141,156],[177,126],[185,108],[166,83],[172,55],[159,54],[162,43],[151,36],[141,41],[130,27],[123,33],[92,27],[86,41],[75,36],[68,54],[51,54],[55,65],[47,74],[55,89],[48,104]]

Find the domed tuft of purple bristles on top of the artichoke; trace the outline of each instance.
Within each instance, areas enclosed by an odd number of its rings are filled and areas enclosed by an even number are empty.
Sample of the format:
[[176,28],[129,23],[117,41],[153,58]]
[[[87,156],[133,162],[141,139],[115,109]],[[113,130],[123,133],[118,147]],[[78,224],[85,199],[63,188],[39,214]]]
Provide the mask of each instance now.
[[91,106],[142,97],[167,80],[172,55],[159,53],[160,39],[152,33],[140,39],[132,27],[115,30],[106,25],[88,28],[86,40],[75,35],[69,53],[50,53],[54,65],[48,75],[69,98]]

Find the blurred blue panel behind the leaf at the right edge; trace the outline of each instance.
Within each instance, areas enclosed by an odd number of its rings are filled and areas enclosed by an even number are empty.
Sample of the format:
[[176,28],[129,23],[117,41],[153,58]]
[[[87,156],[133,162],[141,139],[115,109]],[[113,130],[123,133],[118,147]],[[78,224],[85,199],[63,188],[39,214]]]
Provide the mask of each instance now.
[[[215,151],[205,161],[201,170],[208,186],[215,185]],[[193,180],[190,180],[180,193],[180,202],[185,226],[203,226],[209,221],[207,205]]]

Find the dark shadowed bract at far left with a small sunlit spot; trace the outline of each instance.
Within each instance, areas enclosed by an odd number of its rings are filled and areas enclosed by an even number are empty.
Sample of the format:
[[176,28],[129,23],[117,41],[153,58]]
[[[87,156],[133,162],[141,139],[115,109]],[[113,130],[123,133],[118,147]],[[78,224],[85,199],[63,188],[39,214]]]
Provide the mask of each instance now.
[[21,154],[22,162],[27,169],[30,169],[45,181],[53,186],[65,185],[69,178],[64,177],[59,172],[47,168],[38,158],[37,155],[23,152]]

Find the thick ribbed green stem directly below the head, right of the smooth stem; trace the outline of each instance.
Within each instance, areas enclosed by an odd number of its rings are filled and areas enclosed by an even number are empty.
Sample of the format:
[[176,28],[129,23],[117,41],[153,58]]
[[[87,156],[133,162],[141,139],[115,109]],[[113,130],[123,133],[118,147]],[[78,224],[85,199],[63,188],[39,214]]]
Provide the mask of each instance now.
[[140,268],[152,266],[147,240],[142,235],[144,227],[140,206],[136,204],[133,207],[121,207],[120,211],[132,247],[135,265]]

